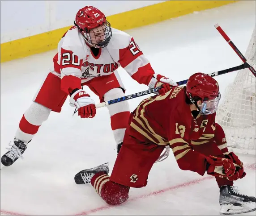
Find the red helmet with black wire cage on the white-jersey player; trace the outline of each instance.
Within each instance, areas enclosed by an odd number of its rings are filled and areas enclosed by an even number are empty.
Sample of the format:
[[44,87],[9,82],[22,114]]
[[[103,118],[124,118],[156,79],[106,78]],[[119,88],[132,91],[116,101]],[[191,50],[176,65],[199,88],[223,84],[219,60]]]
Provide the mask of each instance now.
[[[75,25],[82,33],[85,41],[96,48],[107,46],[111,39],[110,23],[104,13],[93,6],[85,6],[77,12]],[[98,35],[100,35],[100,40],[97,40]]]

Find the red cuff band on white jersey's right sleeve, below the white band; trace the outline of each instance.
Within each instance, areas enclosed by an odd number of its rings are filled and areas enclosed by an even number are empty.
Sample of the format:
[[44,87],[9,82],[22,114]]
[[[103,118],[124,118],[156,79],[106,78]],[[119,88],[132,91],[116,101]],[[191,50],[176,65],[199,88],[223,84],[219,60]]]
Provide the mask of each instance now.
[[140,84],[148,85],[154,73],[150,63],[148,63],[145,66],[139,67],[138,71],[132,75],[132,79],[135,79]]

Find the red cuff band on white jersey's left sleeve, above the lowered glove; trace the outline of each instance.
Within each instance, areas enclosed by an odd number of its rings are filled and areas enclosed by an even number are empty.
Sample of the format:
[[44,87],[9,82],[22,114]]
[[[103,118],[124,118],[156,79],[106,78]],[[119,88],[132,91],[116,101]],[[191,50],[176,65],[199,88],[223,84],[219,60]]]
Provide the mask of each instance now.
[[74,89],[81,89],[81,79],[72,75],[64,76],[60,81],[60,88],[69,95]]

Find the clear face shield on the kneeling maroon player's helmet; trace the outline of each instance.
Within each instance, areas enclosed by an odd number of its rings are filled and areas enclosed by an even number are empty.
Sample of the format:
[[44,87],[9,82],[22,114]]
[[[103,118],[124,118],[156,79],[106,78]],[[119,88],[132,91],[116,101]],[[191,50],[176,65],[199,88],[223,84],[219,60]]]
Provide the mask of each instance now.
[[215,99],[203,100],[201,105],[197,105],[196,101],[198,100],[190,100],[192,101],[193,104],[196,105],[196,108],[201,112],[202,115],[210,115],[217,111],[220,99],[221,93],[219,92],[218,96]]

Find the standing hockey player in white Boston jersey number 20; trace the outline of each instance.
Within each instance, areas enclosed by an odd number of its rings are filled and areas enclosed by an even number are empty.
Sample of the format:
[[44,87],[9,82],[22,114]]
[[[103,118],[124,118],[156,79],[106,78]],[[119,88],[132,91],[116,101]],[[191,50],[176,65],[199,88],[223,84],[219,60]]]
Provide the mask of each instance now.
[[[95,116],[94,100],[81,86],[88,86],[101,102],[123,97],[125,88],[116,71],[119,66],[132,79],[150,88],[164,83],[177,85],[171,79],[155,74],[133,37],[111,28],[105,15],[92,6],[77,12],[75,25],[61,38],[53,62],[54,70],[39,87],[33,103],[20,120],[14,140],[9,143],[9,151],[1,158],[4,166],[22,158],[27,144],[50,112],[60,112],[68,96],[69,104],[78,109],[81,118]],[[130,109],[127,101],[107,108],[118,153],[128,126]]]

